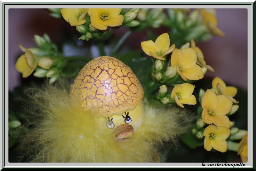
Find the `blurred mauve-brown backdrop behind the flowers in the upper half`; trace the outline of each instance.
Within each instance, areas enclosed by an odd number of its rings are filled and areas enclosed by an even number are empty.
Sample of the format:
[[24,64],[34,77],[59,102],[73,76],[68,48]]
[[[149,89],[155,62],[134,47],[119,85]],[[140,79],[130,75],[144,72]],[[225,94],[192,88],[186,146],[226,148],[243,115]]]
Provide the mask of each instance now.
[[[17,58],[23,54],[19,44],[24,47],[36,46],[33,36],[47,33],[52,42],[61,40],[64,30],[66,36],[77,34],[76,28],[71,27],[63,18],[53,18],[47,9],[9,9],[9,90],[19,86],[22,76],[15,69]],[[217,27],[225,33],[225,38],[213,37],[208,42],[197,43],[204,54],[205,61],[215,69],[207,72],[205,77],[219,76],[228,85],[247,90],[247,9],[216,9]],[[114,30],[113,38],[121,37],[125,28]],[[161,27],[154,29],[157,35],[167,32]],[[111,39],[111,38],[110,38]],[[134,32],[124,42],[124,46],[141,50],[140,42],[147,40],[145,32]],[[172,42],[171,44],[175,43]],[[88,42],[84,40],[86,46]],[[142,51],[142,50],[141,50]],[[86,54],[85,54],[86,55]],[[33,77],[30,76],[30,77]],[[23,81],[26,82],[25,78]]]

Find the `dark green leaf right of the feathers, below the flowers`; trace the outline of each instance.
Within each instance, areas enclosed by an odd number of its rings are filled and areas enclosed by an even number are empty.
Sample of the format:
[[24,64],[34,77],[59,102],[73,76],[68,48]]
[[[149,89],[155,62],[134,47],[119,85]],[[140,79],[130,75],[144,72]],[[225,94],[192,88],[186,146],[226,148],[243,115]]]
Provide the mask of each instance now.
[[187,134],[183,134],[180,137],[180,140],[187,145],[189,148],[195,149],[196,147],[200,147],[204,145],[204,139],[198,139],[194,136],[192,132]]

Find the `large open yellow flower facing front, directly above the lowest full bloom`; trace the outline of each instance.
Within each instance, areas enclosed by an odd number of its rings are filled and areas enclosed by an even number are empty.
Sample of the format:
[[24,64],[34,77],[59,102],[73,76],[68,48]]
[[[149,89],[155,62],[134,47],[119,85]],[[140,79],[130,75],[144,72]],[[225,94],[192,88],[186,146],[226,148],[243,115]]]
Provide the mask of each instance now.
[[206,124],[230,127],[226,114],[232,109],[232,102],[227,96],[217,96],[212,90],[207,89],[202,98],[202,108],[202,118]]

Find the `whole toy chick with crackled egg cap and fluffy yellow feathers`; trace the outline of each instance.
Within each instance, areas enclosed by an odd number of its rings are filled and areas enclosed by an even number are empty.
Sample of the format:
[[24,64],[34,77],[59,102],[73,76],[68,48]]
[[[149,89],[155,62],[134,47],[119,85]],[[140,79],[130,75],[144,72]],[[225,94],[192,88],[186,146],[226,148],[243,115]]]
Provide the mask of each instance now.
[[185,110],[143,102],[131,68],[113,57],[93,59],[73,84],[30,89],[33,129],[20,137],[32,162],[161,162],[159,147],[186,131]]

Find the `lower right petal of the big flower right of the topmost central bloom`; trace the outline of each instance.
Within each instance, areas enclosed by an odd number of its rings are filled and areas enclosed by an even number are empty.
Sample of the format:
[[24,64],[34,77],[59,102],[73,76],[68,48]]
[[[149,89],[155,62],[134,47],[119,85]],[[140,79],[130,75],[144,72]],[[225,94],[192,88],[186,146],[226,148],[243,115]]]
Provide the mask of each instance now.
[[200,80],[204,77],[202,69],[196,64],[185,68],[181,73],[189,80]]

